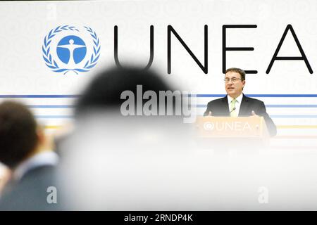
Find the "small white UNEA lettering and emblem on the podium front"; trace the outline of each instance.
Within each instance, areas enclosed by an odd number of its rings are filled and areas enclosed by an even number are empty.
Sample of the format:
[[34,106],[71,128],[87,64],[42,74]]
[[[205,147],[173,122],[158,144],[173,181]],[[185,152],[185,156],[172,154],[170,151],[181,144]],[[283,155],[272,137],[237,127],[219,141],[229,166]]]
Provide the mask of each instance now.
[[251,131],[249,122],[204,122],[204,129],[206,131]]

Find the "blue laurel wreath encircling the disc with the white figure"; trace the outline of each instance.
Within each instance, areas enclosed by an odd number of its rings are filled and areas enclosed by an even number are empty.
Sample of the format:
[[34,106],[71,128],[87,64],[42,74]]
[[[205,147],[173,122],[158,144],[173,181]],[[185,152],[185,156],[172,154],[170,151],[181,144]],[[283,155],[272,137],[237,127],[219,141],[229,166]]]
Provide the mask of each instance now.
[[92,28],[90,27],[85,27],[85,30],[89,32],[90,36],[92,37],[94,41],[94,52],[92,53],[92,56],[90,56],[89,60],[87,60],[87,63],[85,63],[85,66],[83,68],[69,69],[69,68],[60,68],[58,66],[58,63],[56,63],[56,61],[51,57],[51,47],[50,47],[51,39],[55,37],[55,35],[58,32],[62,32],[65,30],[79,32],[79,30],[74,26],[64,25],[64,26],[58,26],[55,29],[52,29],[49,32],[49,34],[47,34],[44,37],[44,42],[42,45],[42,53],[43,53],[43,58],[45,60],[46,66],[51,68],[51,70],[54,72],[64,72],[64,75],[66,75],[66,73],[69,71],[73,71],[76,74],[78,74],[77,72],[88,72],[89,70],[94,68],[100,56],[100,43],[99,43],[99,38],[97,37],[96,32],[94,32]]

